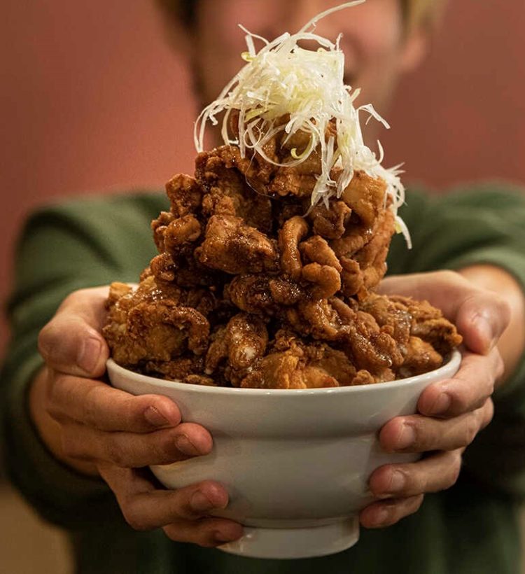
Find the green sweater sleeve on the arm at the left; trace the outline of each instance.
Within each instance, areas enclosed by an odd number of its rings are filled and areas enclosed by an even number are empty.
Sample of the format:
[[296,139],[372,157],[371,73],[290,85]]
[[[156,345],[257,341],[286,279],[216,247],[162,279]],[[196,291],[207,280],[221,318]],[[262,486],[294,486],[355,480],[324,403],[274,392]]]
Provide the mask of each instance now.
[[55,524],[73,527],[115,504],[102,481],[56,461],[31,425],[27,389],[43,363],[38,332],[73,290],[137,281],[153,255],[149,223],[161,209],[166,201],[158,194],[76,200],[38,211],[22,232],[7,309],[12,336],[0,376],[2,451],[15,485]]

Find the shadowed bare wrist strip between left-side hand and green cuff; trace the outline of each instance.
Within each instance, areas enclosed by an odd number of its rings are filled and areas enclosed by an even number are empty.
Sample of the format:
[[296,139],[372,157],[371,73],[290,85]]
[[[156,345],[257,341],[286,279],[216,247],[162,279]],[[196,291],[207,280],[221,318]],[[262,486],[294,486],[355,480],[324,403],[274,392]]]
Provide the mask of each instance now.
[[62,449],[62,431],[60,429],[60,425],[45,409],[46,393],[48,392],[47,377],[48,370],[44,367],[38,372],[38,374],[36,374],[34,381],[31,383],[31,388],[29,389],[29,414],[38,435],[40,435],[45,446],[51,454],[57,458],[57,460],[67,465],[69,468],[80,472],[82,475],[92,477],[99,476],[99,472],[93,464],[87,461],[79,461],[77,459],[70,458],[64,454]]

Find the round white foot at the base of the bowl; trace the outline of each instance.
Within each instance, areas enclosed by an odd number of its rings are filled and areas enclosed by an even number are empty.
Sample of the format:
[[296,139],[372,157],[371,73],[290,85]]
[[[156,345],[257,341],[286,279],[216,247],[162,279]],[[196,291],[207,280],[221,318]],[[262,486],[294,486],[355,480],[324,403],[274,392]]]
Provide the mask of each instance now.
[[311,558],[342,552],[359,540],[359,519],[353,517],[314,528],[244,527],[244,536],[219,549],[251,558]]

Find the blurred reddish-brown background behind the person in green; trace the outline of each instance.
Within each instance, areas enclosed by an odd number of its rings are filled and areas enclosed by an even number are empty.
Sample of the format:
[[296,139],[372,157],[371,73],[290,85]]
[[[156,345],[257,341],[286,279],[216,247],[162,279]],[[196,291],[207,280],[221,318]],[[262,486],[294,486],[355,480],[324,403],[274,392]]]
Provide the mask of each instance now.
[[[479,179],[525,188],[524,29],[523,0],[449,3],[428,61],[405,78],[386,117],[385,164],[405,162],[406,181],[439,193]],[[0,48],[3,302],[27,213],[193,172],[197,106],[153,0],[8,1]],[[0,357],[7,336],[2,317]],[[59,533],[7,486],[0,494],[0,574],[68,572]],[[22,549],[27,540],[34,552]]]

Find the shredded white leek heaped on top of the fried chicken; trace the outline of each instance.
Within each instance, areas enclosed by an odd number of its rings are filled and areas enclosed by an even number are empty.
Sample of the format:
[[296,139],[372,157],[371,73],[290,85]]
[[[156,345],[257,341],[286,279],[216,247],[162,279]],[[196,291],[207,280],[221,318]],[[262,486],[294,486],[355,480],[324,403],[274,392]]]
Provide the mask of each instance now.
[[[314,32],[316,22],[325,16],[363,2],[365,0],[345,2],[325,10],[296,34],[287,32],[273,41],[251,34],[241,26],[246,33],[248,48],[241,57],[247,63],[215,102],[209,104],[197,118],[195,147],[198,152],[203,151],[207,123],[217,125],[216,116],[225,112],[221,130],[223,141],[239,146],[243,157],[248,149],[274,165],[293,167],[307,160],[313,151],[320,151],[321,174],[311,194],[312,206],[320,201],[328,204],[333,196],[340,197],[356,171],[384,179],[386,193],[392,198],[391,209],[395,214],[396,229],[405,235],[410,246],[407,227],[397,214],[398,208],[405,202],[405,188],[399,178],[400,166],[385,169],[381,165],[384,153],[379,142],[379,158],[365,146],[360,113],[368,114],[367,122],[374,118],[387,128],[388,123],[372,104],[357,109],[353,106],[359,90],[344,85],[344,53],[339,47],[341,36],[334,43]],[[259,51],[255,49],[255,40],[263,43]],[[298,45],[301,41],[314,41],[318,48],[305,50]],[[233,110],[239,111],[239,139],[233,138],[228,130]],[[281,123],[283,116],[289,117],[285,125]],[[337,136],[327,140],[326,130],[334,119]],[[296,132],[306,132],[309,144],[301,151],[292,148],[286,163],[276,163],[267,157],[264,146],[279,132],[286,133],[283,144]],[[341,170],[337,181],[330,176],[334,168]]]

